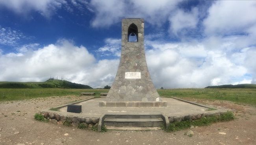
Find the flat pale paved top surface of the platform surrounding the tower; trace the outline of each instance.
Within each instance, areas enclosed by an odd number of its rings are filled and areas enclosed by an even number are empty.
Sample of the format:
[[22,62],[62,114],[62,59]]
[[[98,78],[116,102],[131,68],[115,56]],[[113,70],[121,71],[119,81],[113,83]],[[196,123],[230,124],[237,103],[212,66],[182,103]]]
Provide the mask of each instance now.
[[162,98],[167,102],[165,107],[100,107],[99,102],[104,101],[104,98],[90,99],[77,103],[82,105],[82,112],[80,114],[67,112],[67,106],[59,109],[61,113],[70,114],[74,116],[85,117],[100,117],[102,114],[117,113],[117,114],[136,114],[136,113],[163,113],[166,116],[186,116],[192,114],[204,114],[207,112],[219,112],[223,109],[216,108],[213,111],[207,111],[213,106],[205,106],[200,104],[187,103],[182,100],[174,98]]

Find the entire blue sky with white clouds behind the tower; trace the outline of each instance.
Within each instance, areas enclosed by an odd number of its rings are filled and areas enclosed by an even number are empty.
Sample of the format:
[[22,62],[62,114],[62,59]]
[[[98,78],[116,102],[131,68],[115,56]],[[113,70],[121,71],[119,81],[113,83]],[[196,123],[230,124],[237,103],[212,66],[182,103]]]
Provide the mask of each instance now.
[[144,18],[156,88],[256,83],[254,0],[0,0],[0,81],[111,85],[121,19]]

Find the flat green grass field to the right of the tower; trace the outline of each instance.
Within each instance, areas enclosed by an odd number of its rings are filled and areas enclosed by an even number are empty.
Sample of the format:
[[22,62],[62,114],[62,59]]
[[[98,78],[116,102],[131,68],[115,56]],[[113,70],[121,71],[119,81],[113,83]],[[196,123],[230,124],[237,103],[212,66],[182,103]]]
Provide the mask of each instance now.
[[256,105],[256,89],[220,89],[220,88],[188,88],[188,89],[160,89],[163,97],[189,97],[196,99],[226,100],[236,103]]

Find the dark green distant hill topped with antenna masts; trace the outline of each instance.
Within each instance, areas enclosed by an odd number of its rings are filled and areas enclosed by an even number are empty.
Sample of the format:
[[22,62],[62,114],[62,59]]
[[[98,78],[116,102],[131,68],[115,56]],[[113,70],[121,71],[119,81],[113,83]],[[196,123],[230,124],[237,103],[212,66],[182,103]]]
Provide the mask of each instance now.
[[91,89],[91,86],[72,83],[58,79],[48,79],[45,82],[0,82],[0,88],[77,88]]

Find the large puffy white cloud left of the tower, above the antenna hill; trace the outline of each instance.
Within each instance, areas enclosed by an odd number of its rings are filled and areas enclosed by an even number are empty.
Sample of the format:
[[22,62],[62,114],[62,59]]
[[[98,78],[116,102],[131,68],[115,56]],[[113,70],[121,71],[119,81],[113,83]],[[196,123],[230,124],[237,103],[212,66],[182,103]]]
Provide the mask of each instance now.
[[119,60],[101,60],[83,46],[59,40],[38,50],[0,54],[0,81],[45,81],[50,76],[92,87],[111,85]]

